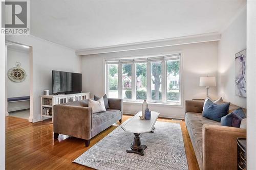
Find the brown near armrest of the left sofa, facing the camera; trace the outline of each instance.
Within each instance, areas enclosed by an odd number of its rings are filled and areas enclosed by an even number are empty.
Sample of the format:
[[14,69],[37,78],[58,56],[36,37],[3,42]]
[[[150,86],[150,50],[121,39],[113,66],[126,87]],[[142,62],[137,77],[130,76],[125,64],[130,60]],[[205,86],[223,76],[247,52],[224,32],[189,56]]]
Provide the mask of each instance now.
[[54,105],[53,132],[81,139],[91,138],[92,108]]

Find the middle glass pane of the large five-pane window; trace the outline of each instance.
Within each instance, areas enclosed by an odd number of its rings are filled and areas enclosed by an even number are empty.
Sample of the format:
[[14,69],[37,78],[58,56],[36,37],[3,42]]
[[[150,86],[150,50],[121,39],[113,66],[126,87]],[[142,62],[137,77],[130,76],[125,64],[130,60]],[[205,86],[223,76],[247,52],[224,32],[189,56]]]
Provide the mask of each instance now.
[[147,88],[147,63],[135,64],[136,74],[136,100],[146,99]]

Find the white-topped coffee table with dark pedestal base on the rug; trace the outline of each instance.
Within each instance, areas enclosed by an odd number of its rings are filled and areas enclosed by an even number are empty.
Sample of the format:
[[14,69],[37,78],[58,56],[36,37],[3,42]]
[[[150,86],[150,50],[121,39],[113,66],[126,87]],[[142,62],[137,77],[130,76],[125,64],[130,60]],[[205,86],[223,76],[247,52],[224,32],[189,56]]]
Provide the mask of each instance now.
[[147,148],[147,146],[141,144],[139,135],[146,132],[154,132],[154,126],[159,113],[151,111],[150,120],[141,120],[139,116],[141,116],[141,111],[134,115],[131,119],[126,120],[126,122],[121,125],[121,128],[125,132],[132,132],[135,135],[131,148],[127,149],[126,152],[143,156],[144,150]]

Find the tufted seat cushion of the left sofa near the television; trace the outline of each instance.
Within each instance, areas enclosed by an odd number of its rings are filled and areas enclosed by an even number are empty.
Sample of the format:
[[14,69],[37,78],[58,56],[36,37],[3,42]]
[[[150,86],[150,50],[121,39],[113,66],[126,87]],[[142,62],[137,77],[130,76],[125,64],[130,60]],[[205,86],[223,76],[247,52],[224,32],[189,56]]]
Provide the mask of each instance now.
[[108,120],[121,114],[120,110],[108,109],[103,112],[98,112],[93,114],[93,128],[107,122]]

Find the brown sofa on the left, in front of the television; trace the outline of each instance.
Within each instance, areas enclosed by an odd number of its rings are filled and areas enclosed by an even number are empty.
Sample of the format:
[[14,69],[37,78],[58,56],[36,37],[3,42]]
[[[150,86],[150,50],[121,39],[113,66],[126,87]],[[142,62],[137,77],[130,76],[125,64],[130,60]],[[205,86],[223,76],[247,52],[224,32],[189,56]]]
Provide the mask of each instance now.
[[54,138],[59,134],[69,135],[86,141],[110,127],[118,120],[122,121],[122,99],[108,99],[110,109],[92,113],[88,100],[54,105],[53,132]]

